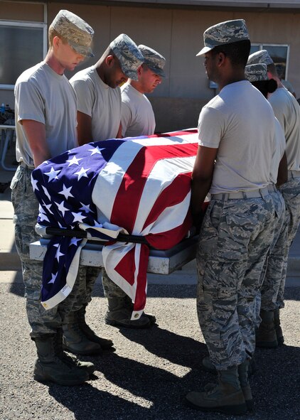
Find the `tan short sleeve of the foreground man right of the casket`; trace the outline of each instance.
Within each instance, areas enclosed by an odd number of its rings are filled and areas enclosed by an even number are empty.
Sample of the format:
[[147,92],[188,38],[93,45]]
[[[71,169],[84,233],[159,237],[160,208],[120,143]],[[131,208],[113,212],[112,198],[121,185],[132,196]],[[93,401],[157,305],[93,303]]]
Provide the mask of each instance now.
[[223,137],[225,121],[217,109],[204,107],[198,120],[198,139],[200,146],[218,149]]

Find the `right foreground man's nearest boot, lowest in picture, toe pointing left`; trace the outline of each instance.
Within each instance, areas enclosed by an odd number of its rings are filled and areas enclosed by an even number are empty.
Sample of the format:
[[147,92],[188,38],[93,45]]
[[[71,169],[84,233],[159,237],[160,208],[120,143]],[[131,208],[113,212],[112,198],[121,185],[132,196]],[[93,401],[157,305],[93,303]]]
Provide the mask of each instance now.
[[200,411],[245,414],[247,405],[240,387],[237,366],[218,370],[218,384],[206,392],[189,392],[186,395],[186,403]]

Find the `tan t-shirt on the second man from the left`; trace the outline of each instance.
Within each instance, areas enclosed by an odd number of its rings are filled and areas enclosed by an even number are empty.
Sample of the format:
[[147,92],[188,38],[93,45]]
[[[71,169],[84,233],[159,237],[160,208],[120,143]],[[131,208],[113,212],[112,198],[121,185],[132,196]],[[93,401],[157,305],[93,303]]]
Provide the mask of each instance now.
[[114,139],[121,122],[121,91],[102,82],[95,66],[77,72],[71,79],[77,93],[77,110],[92,117],[92,139]]

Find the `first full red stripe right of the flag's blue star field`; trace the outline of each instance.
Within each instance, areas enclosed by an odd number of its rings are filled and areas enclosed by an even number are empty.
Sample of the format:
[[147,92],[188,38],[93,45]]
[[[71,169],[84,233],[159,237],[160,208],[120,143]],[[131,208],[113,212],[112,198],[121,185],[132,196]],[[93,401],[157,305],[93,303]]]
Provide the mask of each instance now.
[[195,156],[198,144],[168,144],[145,146],[136,154],[124,174],[112,208],[111,222],[132,233],[139,201],[149,174],[157,161],[165,158]]

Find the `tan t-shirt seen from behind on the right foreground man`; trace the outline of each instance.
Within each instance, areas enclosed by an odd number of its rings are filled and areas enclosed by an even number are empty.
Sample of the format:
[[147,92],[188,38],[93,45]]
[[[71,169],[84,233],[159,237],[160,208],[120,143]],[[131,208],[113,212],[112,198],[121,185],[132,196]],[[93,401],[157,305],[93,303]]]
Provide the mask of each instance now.
[[200,112],[200,146],[218,149],[210,193],[264,188],[271,181],[274,113],[247,80],[226,85]]

